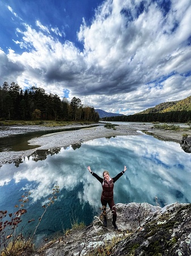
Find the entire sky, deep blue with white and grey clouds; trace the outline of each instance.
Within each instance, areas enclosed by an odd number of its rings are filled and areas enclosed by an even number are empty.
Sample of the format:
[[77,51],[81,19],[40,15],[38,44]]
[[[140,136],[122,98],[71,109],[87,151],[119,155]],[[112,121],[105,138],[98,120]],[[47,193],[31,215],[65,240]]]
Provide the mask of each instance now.
[[0,0],[0,85],[125,115],[191,95],[191,0]]

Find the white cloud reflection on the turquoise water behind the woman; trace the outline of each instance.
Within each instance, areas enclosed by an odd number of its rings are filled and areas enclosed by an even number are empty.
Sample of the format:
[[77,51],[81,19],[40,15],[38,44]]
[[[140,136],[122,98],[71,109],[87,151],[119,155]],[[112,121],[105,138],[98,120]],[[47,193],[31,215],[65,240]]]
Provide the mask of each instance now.
[[[190,202],[190,154],[181,150],[175,142],[163,142],[149,135],[118,136],[110,139],[94,139],[82,143],[80,148],[61,148],[55,155],[47,155],[43,161],[25,159],[18,168],[14,164],[2,166],[0,185],[11,180],[21,183],[20,189],[31,191],[32,201],[43,199],[58,185],[61,190],[76,191],[80,204],[100,206],[101,184],[87,170],[102,175],[108,170],[112,177],[128,170],[116,182],[115,203],[148,202],[155,204],[155,196],[162,204]],[[23,185],[23,180],[27,182]]]

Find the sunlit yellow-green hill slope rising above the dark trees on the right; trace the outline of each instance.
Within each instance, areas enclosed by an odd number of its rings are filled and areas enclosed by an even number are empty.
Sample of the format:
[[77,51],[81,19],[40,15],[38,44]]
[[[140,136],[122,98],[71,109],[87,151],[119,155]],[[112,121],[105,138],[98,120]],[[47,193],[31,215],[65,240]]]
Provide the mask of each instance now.
[[191,96],[180,101],[163,102],[159,105],[156,105],[154,108],[149,108],[136,114],[166,113],[166,112],[181,111],[181,110],[185,110],[185,111],[191,110]]

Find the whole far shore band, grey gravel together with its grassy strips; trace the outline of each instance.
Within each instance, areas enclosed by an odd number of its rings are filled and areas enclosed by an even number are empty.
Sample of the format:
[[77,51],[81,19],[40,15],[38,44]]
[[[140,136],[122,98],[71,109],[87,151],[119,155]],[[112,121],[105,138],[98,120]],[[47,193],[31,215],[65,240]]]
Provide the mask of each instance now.
[[[91,127],[94,125],[94,127]],[[72,129],[84,127],[80,130],[60,131],[60,129]],[[110,129],[108,129],[110,128]],[[191,136],[190,124],[184,127],[179,124],[158,124],[133,122],[127,125],[114,125],[105,127],[104,122],[55,122],[55,121],[1,121],[0,137],[23,134],[32,131],[55,130],[55,133],[46,134],[28,141],[29,145],[36,146],[24,151],[0,152],[0,167],[2,164],[14,162],[31,155],[36,150],[49,150],[50,148],[66,147],[72,144],[83,143],[92,139],[113,137],[120,135],[152,135],[162,141],[173,141],[180,143],[183,135]],[[140,131],[142,133],[140,133]]]

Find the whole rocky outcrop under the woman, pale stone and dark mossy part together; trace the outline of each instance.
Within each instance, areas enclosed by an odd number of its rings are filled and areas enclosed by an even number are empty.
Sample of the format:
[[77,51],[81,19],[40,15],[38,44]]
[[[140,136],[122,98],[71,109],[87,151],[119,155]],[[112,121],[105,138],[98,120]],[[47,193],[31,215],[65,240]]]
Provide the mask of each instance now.
[[[171,204],[164,208],[147,203],[116,204],[117,225],[107,211],[108,226],[95,216],[90,226],[70,230],[57,242],[41,248],[45,256],[94,255],[191,255],[191,204]],[[37,255],[41,255],[35,254]]]

